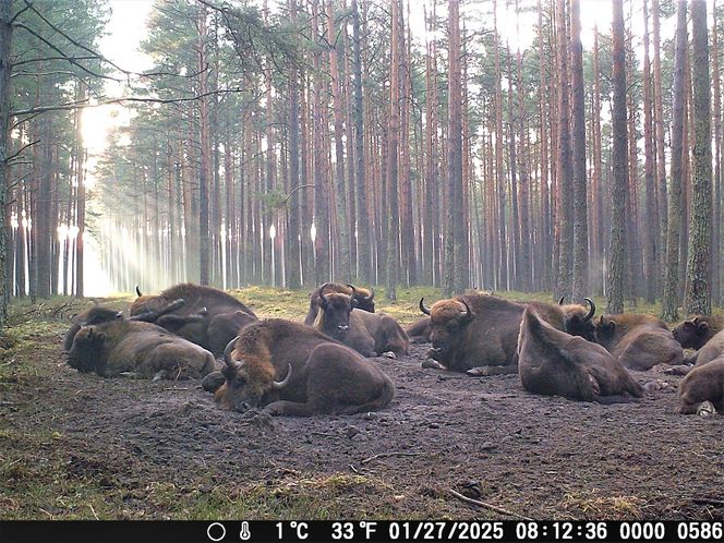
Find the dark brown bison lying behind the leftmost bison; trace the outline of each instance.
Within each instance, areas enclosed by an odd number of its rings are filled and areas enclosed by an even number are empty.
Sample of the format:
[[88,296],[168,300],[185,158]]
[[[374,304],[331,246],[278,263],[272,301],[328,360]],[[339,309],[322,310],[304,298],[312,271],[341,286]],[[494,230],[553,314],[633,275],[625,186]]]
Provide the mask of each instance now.
[[[132,316],[155,311],[169,300],[185,300],[182,307],[158,318],[156,324],[210,350],[216,357],[224,353],[224,348],[237,336],[242,325],[256,321],[256,315],[245,304],[213,287],[186,282],[176,285],[157,295],[144,295],[137,287],[136,293],[138,298],[134,300],[130,311]],[[229,317],[219,319],[221,315]]]

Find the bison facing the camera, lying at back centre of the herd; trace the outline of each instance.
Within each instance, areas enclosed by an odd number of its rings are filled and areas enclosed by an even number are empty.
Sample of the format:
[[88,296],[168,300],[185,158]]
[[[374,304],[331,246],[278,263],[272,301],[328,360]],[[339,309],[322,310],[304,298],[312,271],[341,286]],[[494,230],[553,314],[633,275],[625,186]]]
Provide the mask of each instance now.
[[410,340],[402,327],[389,315],[369,313],[354,309],[358,298],[340,292],[326,293],[319,289],[319,309],[314,328],[363,357],[376,357],[394,352],[396,357],[407,354]]

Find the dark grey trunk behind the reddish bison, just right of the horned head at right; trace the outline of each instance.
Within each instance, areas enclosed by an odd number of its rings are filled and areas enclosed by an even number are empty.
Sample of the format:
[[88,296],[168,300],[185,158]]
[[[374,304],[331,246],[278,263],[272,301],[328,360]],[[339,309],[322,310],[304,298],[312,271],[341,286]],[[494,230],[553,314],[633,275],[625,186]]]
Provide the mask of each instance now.
[[613,0],[613,180],[611,186],[611,240],[608,254],[607,313],[624,312],[624,262],[626,251],[626,190],[628,149],[626,128],[626,49],[624,2]]

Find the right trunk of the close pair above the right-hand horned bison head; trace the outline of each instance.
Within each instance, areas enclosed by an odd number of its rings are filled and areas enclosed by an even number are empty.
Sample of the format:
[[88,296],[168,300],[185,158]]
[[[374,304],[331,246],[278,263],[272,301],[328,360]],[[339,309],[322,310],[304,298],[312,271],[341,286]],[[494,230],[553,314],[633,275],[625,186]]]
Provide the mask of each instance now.
[[574,293],[575,301],[589,295],[588,183],[586,179],[586,100],[583,96],[583,46],[579,0],[570,2],[572,84],[572,184],[574,184]]

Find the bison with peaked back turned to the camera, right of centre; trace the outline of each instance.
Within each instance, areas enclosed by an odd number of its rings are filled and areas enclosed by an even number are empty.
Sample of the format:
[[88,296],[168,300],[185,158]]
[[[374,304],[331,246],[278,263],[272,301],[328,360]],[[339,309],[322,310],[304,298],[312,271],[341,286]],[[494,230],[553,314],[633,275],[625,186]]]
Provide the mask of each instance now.
[[555,329],[526,307],[518,340],[523,388],[571,400],[616,403],[643,396],[643,388],[598,343]]

